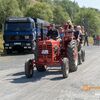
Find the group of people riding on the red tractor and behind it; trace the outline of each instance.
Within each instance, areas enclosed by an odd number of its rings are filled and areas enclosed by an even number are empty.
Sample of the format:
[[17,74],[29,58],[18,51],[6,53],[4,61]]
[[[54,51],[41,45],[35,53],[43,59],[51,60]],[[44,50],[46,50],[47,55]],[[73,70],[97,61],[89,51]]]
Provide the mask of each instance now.
[[82,42],[84,45],[87,43],[87,46],[89,45],[88,43],[88,34],[84,29],[84,26],[80,25],[74,25],[71,23],[70,20],[68,20],[64,26],[56,28],[55,24],[49,27],[49,31],[47,33],[47,36],[52,38],[52,39],[59,39],[63,38],[65,33],[68,32],[73,32],[75,38]]

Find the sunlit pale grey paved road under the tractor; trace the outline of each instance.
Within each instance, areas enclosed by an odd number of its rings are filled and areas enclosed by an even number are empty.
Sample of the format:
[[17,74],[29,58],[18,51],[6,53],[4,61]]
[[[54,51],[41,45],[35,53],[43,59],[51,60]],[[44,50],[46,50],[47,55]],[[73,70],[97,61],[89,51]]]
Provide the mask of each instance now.
[[24,62],[33,55],[0,57],[0,100],[100,100],[100,88],[83,90],[84,85],[100,86],[100,47],[86,47],[86,61],[78,71],[63,79],[59,71],[35,71],[24,75]]

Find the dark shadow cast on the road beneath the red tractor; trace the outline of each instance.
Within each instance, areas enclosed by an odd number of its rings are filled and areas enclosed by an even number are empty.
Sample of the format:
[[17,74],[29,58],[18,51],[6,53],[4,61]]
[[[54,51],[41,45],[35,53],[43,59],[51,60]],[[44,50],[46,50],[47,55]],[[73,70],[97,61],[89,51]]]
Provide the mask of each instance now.
[[[27,83],[27,82],[37,82],[37,81],[40,81],[41,79],[42,80],[51,80],[51,81],[59,81],[59,80],[63,80],[63,77],[61,75],[61,71],[58,71],[58,70],[54,70],[54,71],[46,71],[46,72],[37,72],[36,70],[34,71],[34,76],[32,78],[26,78],[24,72],[19,72],[19,73],[15,73],[15,74],[12,74],[12,76],[16,77],[17,78],[12,78],[12,79],[9,79],[11,80],[10,82],[11,83]],[[49,77],[46,77],[48,75],[55,75],[53,78],[49,78]]]

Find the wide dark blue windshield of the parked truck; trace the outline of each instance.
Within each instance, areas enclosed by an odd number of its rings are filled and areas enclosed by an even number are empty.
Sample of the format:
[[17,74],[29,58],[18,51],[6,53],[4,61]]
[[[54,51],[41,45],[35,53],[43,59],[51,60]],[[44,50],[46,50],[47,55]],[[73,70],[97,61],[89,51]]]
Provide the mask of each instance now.
[[31,31],[32,24],[29,22],[8,22],[5,23],[5,31]]

